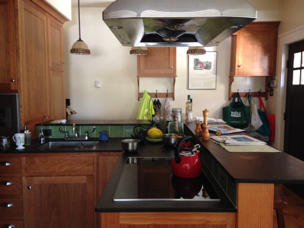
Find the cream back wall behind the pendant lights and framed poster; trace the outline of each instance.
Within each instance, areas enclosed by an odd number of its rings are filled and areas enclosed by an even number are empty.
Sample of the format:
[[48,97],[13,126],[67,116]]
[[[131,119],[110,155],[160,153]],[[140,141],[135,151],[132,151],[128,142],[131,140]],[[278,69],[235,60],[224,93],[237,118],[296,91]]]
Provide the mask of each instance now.
[[[248,1],[257,9],[258,18],[269,21],[279,20],[278,6],[268,4],[279,0]],[[81,8],[81,39],[91,50],[91,55],[72,55],[69,50],[78,40],[77,8],[72,8],[72,20],[64,24],[64,47],[66,67],[66,98],[71,99],[71,108],[77,114],[70,119],[135,119],[140,105],[137,99],[137,60],[129,54],[130,48],[123,47],[102,21],[104,8]],[[267,14],[272,12],[272,17]],[[187,47],[177,47],[177,78],[175,101],[172,107],[181,107],[185,112],[187,95],[193,99],[193,116],[202,116],[202,110],[209,110],[209,117],[222,118],[222,108],[228,103],[228,75],[230,67],[230,44],[227,38],[217,47],[207,47],[207,51],[217,51],[217,78],[215,90],[188,90]],[[140,91],[166,92],[170,81],[160,78],[144,81],[140,78]],[[263,79],[262,79],[263,80]],[[95,88],[95,81],[101,81],[101,88]],[[254,82],[255,83],[255,82]],[[258,84],[261,82],[257,82]],[[252,83],[249,83],[252,84]],[[164,86],[165,85],[165,86]],[[149,87],[150,86],[150,87]],[[259,87],[259,86],[258,86]],[[264,88],[264,87],[263,87]],[[244,88],[247,91],[247,88]],[[141,100],[141,99],[140,99]],[[164,98],[161,98],[164,104]]]

